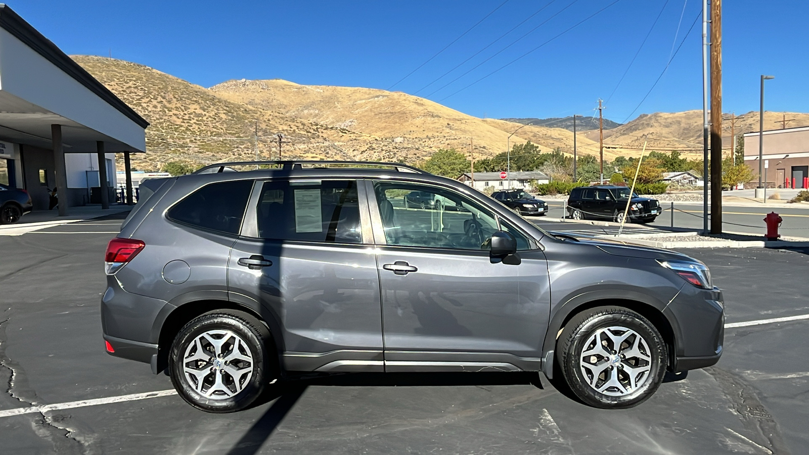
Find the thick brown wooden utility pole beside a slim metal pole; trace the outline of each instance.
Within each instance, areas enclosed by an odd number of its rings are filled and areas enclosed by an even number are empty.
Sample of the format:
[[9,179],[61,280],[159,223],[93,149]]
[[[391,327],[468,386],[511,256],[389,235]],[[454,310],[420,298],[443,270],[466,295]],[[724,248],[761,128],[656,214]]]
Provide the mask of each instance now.
[[710,232],[722,233],[722,0],[710,2]]

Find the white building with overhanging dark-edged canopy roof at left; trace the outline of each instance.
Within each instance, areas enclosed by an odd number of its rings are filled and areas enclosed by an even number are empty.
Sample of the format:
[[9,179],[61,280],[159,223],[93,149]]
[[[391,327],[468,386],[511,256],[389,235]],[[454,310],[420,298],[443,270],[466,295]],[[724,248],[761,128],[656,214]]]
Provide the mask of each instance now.
[[[116,154],[146,151],[149,123],[0,4],[0,183],[25,189],[34,210],[115,202]],[[131,185],[126,185],[132,203]]]

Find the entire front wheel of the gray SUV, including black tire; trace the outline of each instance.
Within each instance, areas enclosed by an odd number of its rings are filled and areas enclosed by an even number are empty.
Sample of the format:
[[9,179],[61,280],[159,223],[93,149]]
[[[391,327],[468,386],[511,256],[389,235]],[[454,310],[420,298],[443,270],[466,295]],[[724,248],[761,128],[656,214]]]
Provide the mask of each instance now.
[[[627,331],[633,334],[627,335]],[[610,334],[627,338],[617,350],[610,351]],[[642,355],[633,355],[632,347]],[[582,359],[582,352],[599,350],[610,356],[595,353],[586,356],[587,362]],[[648,356],[649,360],[642,356]],[[645,402],[663,382],[666,343],[649,320],[628,308],[591,308],[565,325],[557,339],[557,363],[565,383],[582,402],[602,409],[625,409]],[[637,373],[630,375],[628,371],[632,370]],[[632,376],[637,381],[634,387]]]

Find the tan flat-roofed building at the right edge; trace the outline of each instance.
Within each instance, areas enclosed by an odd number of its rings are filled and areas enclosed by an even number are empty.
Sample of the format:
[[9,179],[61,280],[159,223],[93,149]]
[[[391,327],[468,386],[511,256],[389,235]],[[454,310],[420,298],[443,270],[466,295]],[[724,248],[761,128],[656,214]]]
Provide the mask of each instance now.
[[764,141],[762,181],[767,188],[807,188],[809,177],[809,126],[744,134],[744,163],[758,180],[759,136]]

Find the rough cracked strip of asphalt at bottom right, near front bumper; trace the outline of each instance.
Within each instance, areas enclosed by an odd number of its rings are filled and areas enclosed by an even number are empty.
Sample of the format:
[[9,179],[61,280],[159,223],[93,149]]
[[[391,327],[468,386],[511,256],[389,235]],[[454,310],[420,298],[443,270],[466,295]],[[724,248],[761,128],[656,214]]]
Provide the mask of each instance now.
[[771,453],[778,455],[790,455],[790,449],[786,445],[784,437],[778,423],[770,414],[769,410],[761,404],[758,393],[752,385],[735,374],[721,368],[705,368],[705,372],[714,376],[722,392],[730,400],[744,429],[747,430],[751,440],[761,447],[765,447]]

